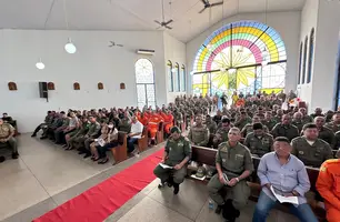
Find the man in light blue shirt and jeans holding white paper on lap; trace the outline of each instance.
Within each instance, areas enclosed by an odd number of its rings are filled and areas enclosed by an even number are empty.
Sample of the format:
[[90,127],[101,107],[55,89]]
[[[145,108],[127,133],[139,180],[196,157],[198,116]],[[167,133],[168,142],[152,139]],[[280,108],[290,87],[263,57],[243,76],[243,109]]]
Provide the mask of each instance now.
[[[261,158],[258,176],[262,191],[253,212],[252,222],[266,221],[269,211],[276,203],[279,203],[276,195],[282,195],[281,201],[284,201],[284,196],[297,196],[298,204],[291,204],[290,208],[292,214],[301,222],[318,222],[304,198],[304,193],[310,189],[307,170],[303,162],[291,154],[292,147],[289,142],[288,138],[276,138],[274,151]],[[291,199],[291,201],[294,200]]]

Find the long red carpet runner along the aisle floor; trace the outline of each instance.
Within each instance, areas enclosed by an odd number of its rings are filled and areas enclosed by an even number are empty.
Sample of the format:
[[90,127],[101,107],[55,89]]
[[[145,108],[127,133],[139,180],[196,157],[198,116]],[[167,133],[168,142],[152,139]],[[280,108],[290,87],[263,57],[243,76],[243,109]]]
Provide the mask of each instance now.
[[153,169],[162,157],[163,150],[149,155],[33,222],[102,222],[156,179]]

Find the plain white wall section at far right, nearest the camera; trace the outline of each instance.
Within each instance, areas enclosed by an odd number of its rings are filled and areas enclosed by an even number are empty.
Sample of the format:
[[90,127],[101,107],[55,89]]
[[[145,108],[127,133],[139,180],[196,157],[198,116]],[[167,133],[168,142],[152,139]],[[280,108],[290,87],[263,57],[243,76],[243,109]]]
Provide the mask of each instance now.
[[339,1],[319,1],[311,109],[333,109],[340,28]]

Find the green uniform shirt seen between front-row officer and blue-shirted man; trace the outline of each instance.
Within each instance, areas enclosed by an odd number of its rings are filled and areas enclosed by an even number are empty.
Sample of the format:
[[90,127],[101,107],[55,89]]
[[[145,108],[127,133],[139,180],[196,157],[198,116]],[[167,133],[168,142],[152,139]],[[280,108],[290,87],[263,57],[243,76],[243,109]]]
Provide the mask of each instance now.
[[260,138],[253,132],[249,133],[244,140],[244,145],[249,148],[251,154],[256,154],[260,158],[268,152],[271,152],[273,144],[273,138],[271,134],[263,133]]

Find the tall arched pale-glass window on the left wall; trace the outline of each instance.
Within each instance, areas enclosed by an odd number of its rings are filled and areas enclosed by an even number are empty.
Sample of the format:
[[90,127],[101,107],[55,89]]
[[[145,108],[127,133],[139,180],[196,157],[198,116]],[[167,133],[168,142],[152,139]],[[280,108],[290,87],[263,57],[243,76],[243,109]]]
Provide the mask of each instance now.
[[153,64],[148,59],[139,59],[136,64],[137,105],[156,108]]

